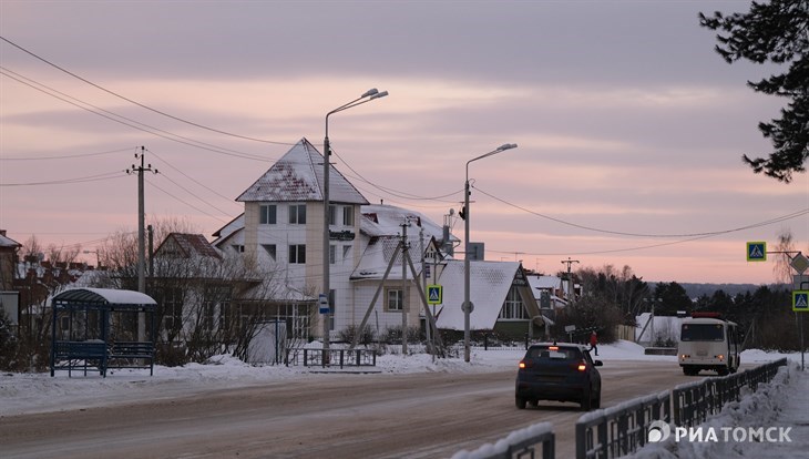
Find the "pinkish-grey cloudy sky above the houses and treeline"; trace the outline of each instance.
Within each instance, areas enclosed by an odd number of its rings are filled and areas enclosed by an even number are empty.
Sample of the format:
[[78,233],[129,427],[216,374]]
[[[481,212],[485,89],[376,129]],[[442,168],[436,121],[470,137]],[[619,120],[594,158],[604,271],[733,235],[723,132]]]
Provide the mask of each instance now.
[[747,263],[745,243],[790,231],[809,252],[809,177],[741,163],[769,152],[756,126],[786,102],[745,83],[777,69],[726,64],[697,21],[747,8],[3,0],[0,34],[62,70],[0,41],[0,227],[86,251],[135,231],[123,171],[144,145],[160,171],[147,214],[211,237],[291,144],[321,149],[328,111],[378,88],[390,95],[329,123],[336,167],[372,203],[440,224],[460,208],[467,161],[516,143],[470,165],[471,238],[488,259],[771,283],[774,264]]

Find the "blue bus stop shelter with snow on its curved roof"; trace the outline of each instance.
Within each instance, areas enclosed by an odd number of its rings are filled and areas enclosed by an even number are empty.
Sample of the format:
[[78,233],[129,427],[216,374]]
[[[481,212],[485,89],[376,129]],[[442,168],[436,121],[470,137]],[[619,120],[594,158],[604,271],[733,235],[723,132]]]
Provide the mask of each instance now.
[[112,288],[73,288],[51,300],[51,376],[95,367],[149,368],[154,374],[157,303],[146,294]]

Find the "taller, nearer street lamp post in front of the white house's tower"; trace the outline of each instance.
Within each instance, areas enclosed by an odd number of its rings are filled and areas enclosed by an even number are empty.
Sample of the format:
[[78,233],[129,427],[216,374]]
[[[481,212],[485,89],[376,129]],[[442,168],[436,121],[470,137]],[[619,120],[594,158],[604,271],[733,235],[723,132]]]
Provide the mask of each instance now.
[[[369,89],[359,98],[351,102],[345,103],[337,109],[326,113],[326,139],[324,139],[324,187],[322,187],[322,207],[324,207],[324,224],[322,224],[322,295],[326,295],[326,302],[328,303],[329,313],[331,310],[331,298],[329,285],[329,155],[331,154],[331,147],[329,146],[329,116],[341,112],[344,110],[351,109],[357,105],[361,105],[366,102],[370,102],[375,99],[385,98],[388,95],[388,91],[379,92],[376,88]],[[329,313],[322,315],[322,365],[328,364],[329,353]]]

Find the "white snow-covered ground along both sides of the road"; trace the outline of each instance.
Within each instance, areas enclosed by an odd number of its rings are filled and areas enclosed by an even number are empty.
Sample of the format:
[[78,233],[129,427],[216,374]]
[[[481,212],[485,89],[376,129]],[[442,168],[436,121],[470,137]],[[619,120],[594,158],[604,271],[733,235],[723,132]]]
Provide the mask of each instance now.
[[[481,373],[516,368],[524,350],[473,349],[471,361],[463,358],[433,359],[429,355],[386,355],[378,357],[376,371],[407,373]],[[809,458],[809,371],[800,371],[800,354],[782,355],[746,350],[744,364],[767,363],[787,357],[788,368],[781,369],[771,384],[760,385],[756,394],[745,392],[739,402],[729,404],[721,414],[706,422],[706,431],[714,427],[719,437],[723,428],[784,427],[791,428],[791,442],[731,441],[689,442],[675,441],[674,432],[668,440],[653,443],[636,453],[636,459],[652,458]],[[647,356],[643,347],[618,341],[598,346],[598,358],[608,360],[667,360],[674,356]],[[155,366],[154,376],[149,370],[111,370],[106,378],[98,373],[73,374],[0,374],[0,416],[47,412],[71,408],[88,408],[139,399],[163,399],[211,389],[237,388],[295,378],[307,378],[319,367],[252,366],[227,356],[221,356],[208,365],[191,364],[184,367]],[[642,394],[641,396],[646,395]],[[674,429],[675,426],[672,426]],[[784,429],[781,429],[782,431]],[[775,434],[775,430],[772,431]],[[721,438],[719,438],[721,440]]]

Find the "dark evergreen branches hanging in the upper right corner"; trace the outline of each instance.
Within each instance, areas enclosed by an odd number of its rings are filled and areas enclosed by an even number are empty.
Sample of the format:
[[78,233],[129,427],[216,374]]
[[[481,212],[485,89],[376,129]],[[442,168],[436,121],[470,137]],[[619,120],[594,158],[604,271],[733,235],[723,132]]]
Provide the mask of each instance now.
[[781,109],[780,119],[758,125],[772,142],[775,151],[769,157],[743,156],[755,173],[789,183],[793,172],[806,171],[809,155],[809,0],[754,1],[746,14],[699,13],[699,23],[721,32],[716,51],[728,63],[745,59],[789,64],[785,73],[747,82],[756,92],[789,98],[790,102]]

